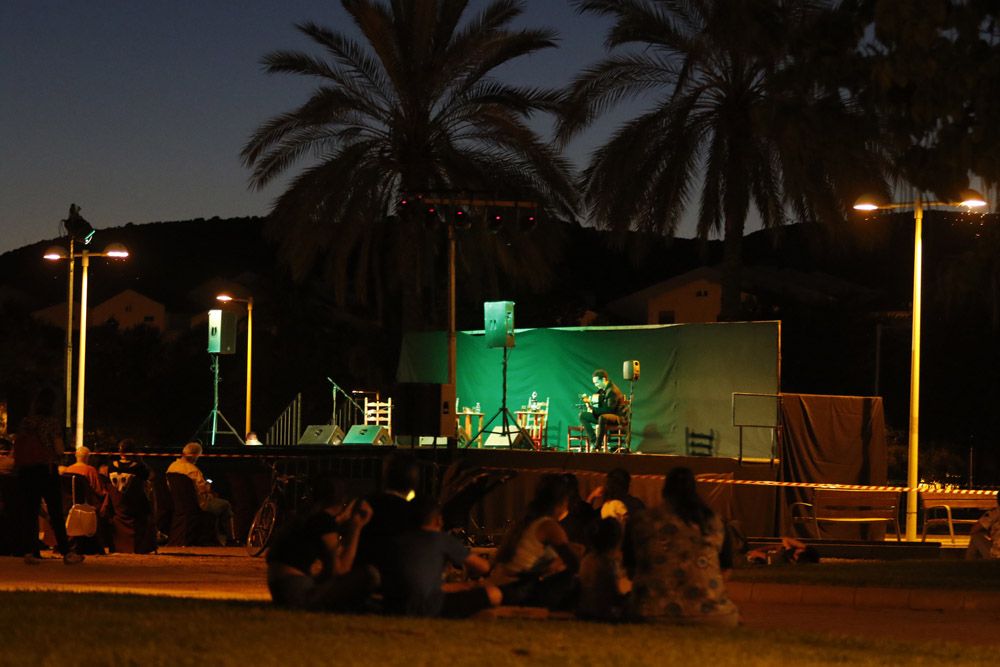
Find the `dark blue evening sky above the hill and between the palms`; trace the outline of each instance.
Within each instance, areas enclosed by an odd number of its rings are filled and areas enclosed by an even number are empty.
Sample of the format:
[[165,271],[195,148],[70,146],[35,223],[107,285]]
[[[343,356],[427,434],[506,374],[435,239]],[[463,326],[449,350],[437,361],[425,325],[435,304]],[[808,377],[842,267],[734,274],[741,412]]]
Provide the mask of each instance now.
[[[601,58],[605,19],[525,4],[520,24],[558,30],[561,46],[505,79],[563,85]],[[311,90],[259,65],[316,52],[293,27],[306,20],[355,34],[336,0],[0,1],[0,252],[58,236],[72,202],[97,228],[266,213],[281,184],[248,190],[239,151]],[[602,120],[571,159],[633,112]]]

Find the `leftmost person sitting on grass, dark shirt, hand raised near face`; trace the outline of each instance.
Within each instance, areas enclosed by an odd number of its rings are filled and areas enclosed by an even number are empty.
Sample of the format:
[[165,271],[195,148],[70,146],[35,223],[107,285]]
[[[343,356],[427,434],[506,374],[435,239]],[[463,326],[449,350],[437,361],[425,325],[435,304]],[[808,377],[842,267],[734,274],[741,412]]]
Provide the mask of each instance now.
[[371,506],[364,500],[346,503],[343,482],[332,476],[318,478],[313,494],[312,509],[280,530],[267,552],[271,599],[291,609],[360,609],[378,583],[371,568],[354,566]]

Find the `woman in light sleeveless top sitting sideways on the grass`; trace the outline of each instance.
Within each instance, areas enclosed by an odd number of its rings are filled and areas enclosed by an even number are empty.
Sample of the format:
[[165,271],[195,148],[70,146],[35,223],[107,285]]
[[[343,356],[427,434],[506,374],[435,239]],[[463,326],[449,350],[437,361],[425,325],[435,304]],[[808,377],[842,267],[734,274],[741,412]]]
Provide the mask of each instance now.
[[504,537],[490,573],[505,603],[564,609],[573,602],[582,547],[571,545],[559,525],[568,502],[563,476],[543,475],[524,518]]

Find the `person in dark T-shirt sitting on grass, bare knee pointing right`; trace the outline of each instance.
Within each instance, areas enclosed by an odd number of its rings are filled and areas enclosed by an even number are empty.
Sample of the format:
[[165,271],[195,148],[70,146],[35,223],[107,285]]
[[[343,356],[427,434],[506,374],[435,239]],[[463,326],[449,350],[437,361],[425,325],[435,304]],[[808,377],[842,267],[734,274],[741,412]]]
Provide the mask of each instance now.
[[503,596],[491,584],[441,583],[449,564],[484,575],[490,571],[489,561],[470,553],[454,535],[442,532],[441,508],[432,499],[416,500],[413,505],[415,527],[396,539],[396,563],[384,573],[385,610],[408,616],[465,618],[499,605]]

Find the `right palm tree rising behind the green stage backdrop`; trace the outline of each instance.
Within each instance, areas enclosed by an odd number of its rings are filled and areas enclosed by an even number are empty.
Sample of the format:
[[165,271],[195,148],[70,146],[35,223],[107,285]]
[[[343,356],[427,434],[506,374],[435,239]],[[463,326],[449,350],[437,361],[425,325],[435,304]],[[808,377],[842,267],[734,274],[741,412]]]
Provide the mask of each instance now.
[[649,102],[591,156],[583,174],[591,215],[604,227],[671,235],[700,187],[698,234],[724,235],[722,319],[740,314],[751,206],[765,227],[789,213],[839,221],[862,184],[882,182],[865,141],[870,123],[841,85],[860,34],[831,3],[574,4],[614,25],[611,54],[567,94],[561,140],[623,99]]

